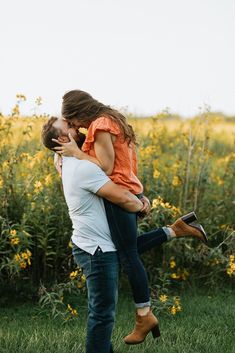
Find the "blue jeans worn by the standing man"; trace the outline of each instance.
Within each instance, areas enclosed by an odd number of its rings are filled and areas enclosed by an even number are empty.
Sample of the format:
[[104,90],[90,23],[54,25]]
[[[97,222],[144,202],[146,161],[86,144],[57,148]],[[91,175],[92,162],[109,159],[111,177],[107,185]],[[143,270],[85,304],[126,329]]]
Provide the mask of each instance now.
[[88,289],[86,353],[111,353],[118,286],[117,253],[103,253],[98,248],[91,255],[74,245],[73,256],[83,269]]

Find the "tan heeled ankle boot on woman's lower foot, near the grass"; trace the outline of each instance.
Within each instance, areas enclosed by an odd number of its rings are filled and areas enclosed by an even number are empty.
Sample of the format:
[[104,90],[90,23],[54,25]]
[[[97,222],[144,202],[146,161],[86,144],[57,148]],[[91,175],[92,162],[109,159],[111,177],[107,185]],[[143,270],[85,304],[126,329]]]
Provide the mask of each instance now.
[[126,344],[139,344],[145,340],[150,331],[152,331],[154,338],[160,336],[158,319],[151,310],[144,316],[136,314],[135,328],[132,333],[124,338],[124,341]]

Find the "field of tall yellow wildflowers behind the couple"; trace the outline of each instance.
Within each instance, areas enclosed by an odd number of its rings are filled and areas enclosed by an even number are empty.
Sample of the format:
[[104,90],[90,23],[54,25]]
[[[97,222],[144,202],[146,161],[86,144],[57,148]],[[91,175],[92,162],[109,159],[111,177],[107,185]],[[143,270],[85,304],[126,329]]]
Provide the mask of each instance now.
[[[39,287],[43,291],[42,284],[68,280],[70,290],[82,289],[84,278],[71,256],[71,223],[60,178],[52,153],[40,141],[47,117],[21,117],[16,108],[12,116],[0,115],[1,292],[3,297],[10,292],[32,295]],[[161,285],[156,300],[165,305],[169,283],[231,283],[235,121],[209,113],[191,120],[161,114],[129,121],[139,140],[139,178],[152,202],[150,215],[139,222],[140,232],[195,210],[209,234],[209,247],[181,239],[144,256],[150,281],[156,290]],[[172,306],[177,311],[179,300]]]

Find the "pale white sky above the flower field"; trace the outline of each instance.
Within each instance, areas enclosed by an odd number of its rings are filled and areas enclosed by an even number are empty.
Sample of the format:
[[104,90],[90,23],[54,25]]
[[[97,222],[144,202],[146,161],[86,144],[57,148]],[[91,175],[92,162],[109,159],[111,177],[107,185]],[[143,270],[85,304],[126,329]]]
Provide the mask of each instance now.
[[235,114],[235,0],[5,0],[0,111],[82,89],[134,114]]

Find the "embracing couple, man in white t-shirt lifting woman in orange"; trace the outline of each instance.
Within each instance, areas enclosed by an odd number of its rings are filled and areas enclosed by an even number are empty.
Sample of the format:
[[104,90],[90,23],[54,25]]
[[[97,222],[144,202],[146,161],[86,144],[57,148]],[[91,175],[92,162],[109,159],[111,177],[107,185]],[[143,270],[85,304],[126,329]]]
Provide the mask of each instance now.
[[[87,129],[87,135],[79,132]],[[128,275],[136,308],[126,344],[160,336],[140,255],[179,237],[207,242],[194,212],[172,225],[137,237],[137,216],[150,211],[137,177],[136,137],[126,118],[90,94],[73,90],[63,97],[62,118],[42,128],[43,144],[58,153],[56,167],[72,221],[73,256],[86,276],[88,320],[86,353],[112,353],[111,335],[121,264]]]

